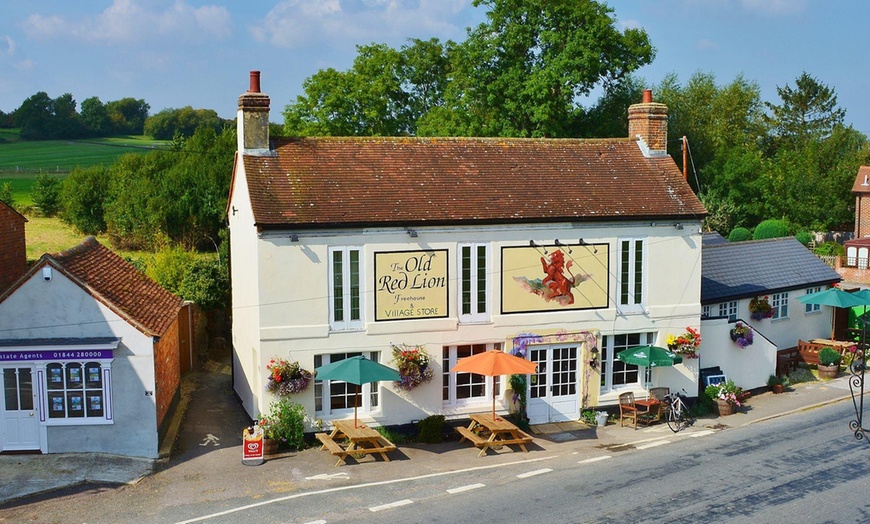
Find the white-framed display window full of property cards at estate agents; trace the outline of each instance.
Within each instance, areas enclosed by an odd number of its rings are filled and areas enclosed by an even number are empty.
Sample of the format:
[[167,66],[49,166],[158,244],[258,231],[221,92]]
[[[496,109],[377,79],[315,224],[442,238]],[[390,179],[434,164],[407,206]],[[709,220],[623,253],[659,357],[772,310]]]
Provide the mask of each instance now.
[[47,424],[112,422],[108,362],[64,361],[45,364]]

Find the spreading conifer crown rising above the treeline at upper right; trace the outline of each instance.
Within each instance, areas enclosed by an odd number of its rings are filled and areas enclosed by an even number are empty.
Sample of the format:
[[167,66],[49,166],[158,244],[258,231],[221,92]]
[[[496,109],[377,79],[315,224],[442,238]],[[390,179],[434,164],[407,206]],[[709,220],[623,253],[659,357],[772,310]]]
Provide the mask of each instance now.
[[782,141],[803,144],[826,138],[846,116],[846,111],[837,107],[834,89],[806,71],[795,80],[795,89],[786,84],[777,86],[776,91],[782,104],[765,102],[771,112],[766,120]]

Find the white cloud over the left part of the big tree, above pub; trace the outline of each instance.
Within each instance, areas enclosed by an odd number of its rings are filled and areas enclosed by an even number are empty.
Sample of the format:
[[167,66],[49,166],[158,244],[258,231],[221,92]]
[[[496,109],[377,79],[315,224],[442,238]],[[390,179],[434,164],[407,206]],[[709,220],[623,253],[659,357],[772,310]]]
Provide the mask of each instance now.
[[470,0],[284,0],[249,27],[258,42],[275,47],[349,47],[406,38],[461,40],[452,20]]

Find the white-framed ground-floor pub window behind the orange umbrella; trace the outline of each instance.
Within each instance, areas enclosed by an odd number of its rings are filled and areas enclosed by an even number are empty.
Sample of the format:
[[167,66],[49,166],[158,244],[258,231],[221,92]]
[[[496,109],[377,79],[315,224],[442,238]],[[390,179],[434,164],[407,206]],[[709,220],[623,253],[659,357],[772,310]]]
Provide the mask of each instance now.
[[477,373],[451,373],[450,369],[459,359],[485,353],[490,349],[501,350],[501,344],[463,344],[442,348],[442,400],[447,407],[464,407],[483,404],[492,399],[493,388],[498,392],[499,377],[487,377]]

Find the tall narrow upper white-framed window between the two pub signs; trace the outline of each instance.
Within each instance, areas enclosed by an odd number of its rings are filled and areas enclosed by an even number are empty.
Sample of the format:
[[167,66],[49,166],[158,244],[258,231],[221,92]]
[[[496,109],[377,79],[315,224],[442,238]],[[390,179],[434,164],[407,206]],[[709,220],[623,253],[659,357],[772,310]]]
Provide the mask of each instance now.
[[459,244],[459,321],[489,320],[489,246]]

